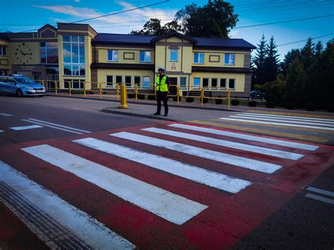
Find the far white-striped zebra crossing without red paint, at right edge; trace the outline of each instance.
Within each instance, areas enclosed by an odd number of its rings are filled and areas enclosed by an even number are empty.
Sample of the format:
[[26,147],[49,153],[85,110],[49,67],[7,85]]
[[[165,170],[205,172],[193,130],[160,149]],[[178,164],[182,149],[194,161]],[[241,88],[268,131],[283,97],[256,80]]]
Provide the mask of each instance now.
[[270,115],[264,113],[238,113],[236,115],[229,115],[226,118],[220,118],[220,120],[334,131],[334,120],[324,118],[307,118],[292,115]]

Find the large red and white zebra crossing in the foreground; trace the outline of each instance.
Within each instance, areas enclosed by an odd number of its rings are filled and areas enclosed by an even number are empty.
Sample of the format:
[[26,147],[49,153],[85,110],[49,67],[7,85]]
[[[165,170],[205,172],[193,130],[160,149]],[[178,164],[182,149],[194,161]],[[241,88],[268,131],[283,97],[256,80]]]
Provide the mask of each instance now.
[[[66,224],[61,212],[50,212],[44,202],[50,198],[24,187],[40,186],[56,196],[52,206],[67,204],[82,220],[92,216],[122,249],[228,248],[328,168],[320,157],[333,158],[327,146],[183,123],[25,143],[0,153],[0,183],[8,186],[0,185],[0,201],[8,189],[26,189],[20,195]],[[309,177],[299,178],[301,166]],[[71,233],[85,246],[99,246],[82,230]],[[56,237],[42,239],[58,246]]]

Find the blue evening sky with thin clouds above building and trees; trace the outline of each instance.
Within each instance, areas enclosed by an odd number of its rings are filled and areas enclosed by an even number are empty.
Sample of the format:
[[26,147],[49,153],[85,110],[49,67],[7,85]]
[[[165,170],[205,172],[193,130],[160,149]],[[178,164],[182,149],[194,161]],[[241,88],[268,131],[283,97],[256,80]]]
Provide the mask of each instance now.
[[[161,1],[163,0],[0,0],[0,32],[24,32],[38,29],[46,23],[56,26],[56,23],[94,18]],[[89,20],[85,23],[92,25],[97,32],[128,34],[131,30],[140,30],[149,18],[160,18],[161,23],[167,23],[173,20],[176,11],[192,2],[202,6],[207,0],[170,0],[163,4]],[[334,0],[230,0],[229,2],[235,6],[235,13],[239,15],[236,27],[229,34],[230,38],[242,38],[256,46],[262,35],[266,39],[273,36],[278,45],[280,59],[283,59],[290,49],[304,46],[305,42],[287,43],[327,35],[314,39],[314,42],[321,40],[326,46],[326,42],[334,37]],[[327,16],[318,18],[324,15]],[[304,18],[312,19],[276,23]],[[266,23],[276,24],[261,25]],[[247,27],[249,25],[258,26]],[[282,44],[287,45],[280,46]]]

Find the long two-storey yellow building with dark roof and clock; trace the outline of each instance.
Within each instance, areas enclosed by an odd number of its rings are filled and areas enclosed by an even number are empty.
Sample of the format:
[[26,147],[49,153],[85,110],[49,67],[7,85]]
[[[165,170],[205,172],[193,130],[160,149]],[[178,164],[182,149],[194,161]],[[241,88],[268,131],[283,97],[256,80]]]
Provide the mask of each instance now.
[[116,83],[153,89],[157,68],[186,92],[205,87],[247,96],[255,46],[244,39],[97,33],[85,24],[44,25],[37,32],[0,33],[0,74],[23,74],[59,89],[114,88]]

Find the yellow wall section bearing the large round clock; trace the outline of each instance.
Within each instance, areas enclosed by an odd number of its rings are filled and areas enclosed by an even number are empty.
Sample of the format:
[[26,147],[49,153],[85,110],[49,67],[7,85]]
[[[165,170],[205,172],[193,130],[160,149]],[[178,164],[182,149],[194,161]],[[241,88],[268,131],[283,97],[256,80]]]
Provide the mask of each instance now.
[[[24,45],[23,45],[24,44]],[[8,48],[11,64],[39,64],[39,42],[11,42]],[[30,54],[30,55],[23,55]]]

